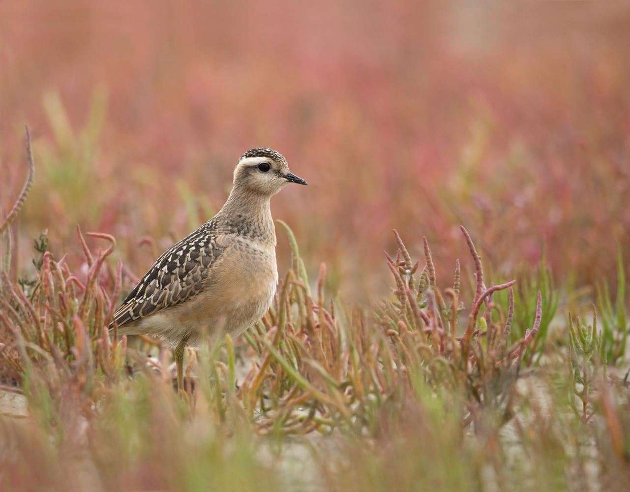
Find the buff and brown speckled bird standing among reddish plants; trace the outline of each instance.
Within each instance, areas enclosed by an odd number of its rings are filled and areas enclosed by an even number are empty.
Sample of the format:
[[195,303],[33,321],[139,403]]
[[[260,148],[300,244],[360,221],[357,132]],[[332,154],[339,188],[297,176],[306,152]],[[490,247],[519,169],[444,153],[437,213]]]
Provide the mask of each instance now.
[[307,182],[277,151],[245,152],[221,210],[165,251],[113,315],[119,335],[152,335],[175,347],[178,392],[186,345],[240,335],[268,311],[278,285],[270,198]]

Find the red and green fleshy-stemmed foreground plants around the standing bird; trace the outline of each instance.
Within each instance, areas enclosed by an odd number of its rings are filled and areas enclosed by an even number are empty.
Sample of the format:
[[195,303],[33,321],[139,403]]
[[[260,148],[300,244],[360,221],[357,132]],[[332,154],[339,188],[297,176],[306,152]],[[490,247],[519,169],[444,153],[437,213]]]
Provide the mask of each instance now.
[[604,289],[597,309],[554,317],[544,262],[495,285],[462,227],[474,273],[458,260],[444,287],[426,239],[414,263],[394,231],[391,298],[353,306],[326,302],[326,266],[312,285],[279,224],[292,268],[272,308],[189,350],[183,398],[169,348],[107,328],[132,287],[115,239],[88,232],[107,245],[91,251],[77,228],[89,268],[72,272],[40,237],[37,277],[2,279],[0,367],[28,417],[0,418],[0,488],[617,490],[630,476],[621,258],[615,307]]

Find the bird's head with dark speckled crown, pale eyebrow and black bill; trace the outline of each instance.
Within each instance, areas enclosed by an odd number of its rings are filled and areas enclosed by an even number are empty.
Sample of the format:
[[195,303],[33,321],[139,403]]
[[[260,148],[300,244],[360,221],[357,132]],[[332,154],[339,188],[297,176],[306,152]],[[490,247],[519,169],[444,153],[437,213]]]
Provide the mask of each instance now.
[[288,183],[307,184],[291,174],[287,159],[272,149],[260,147],[245,152],[234,169],[234,188],[242,186],[250,193],[271,197]]

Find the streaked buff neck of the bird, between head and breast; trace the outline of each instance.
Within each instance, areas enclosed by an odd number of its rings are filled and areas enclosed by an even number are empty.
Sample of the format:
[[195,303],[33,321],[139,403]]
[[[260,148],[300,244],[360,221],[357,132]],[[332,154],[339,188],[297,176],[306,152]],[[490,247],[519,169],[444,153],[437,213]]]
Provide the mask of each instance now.
[[269,200],[270,197],[266,195],[235,186],[217,215],[221,215],[228,229],[226,232],[258,242],[270,242],[275,246],[275,227]]

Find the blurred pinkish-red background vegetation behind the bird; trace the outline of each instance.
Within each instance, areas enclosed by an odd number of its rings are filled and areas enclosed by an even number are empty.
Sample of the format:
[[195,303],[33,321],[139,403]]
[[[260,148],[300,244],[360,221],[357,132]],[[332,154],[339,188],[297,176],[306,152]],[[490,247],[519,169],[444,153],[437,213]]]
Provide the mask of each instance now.
[[[616,243],[630,258],[629,54],[625,1],[4,0],[4,208],[24,123],[38,166],[14,275],[42,229],[80,251],[77,222],[142,273],[139,238],[161,251],[209,219],[238,157],[266,146],[309,181],[272,212],[313,275],[326,261],[331,292],[382,289],[394,227],[413,256],[427,236],[450,278],[459,224],[496,272],[536,263],[544,240],[556,277],[614,281]],[[281,231],[278,247],[287,265]]]

